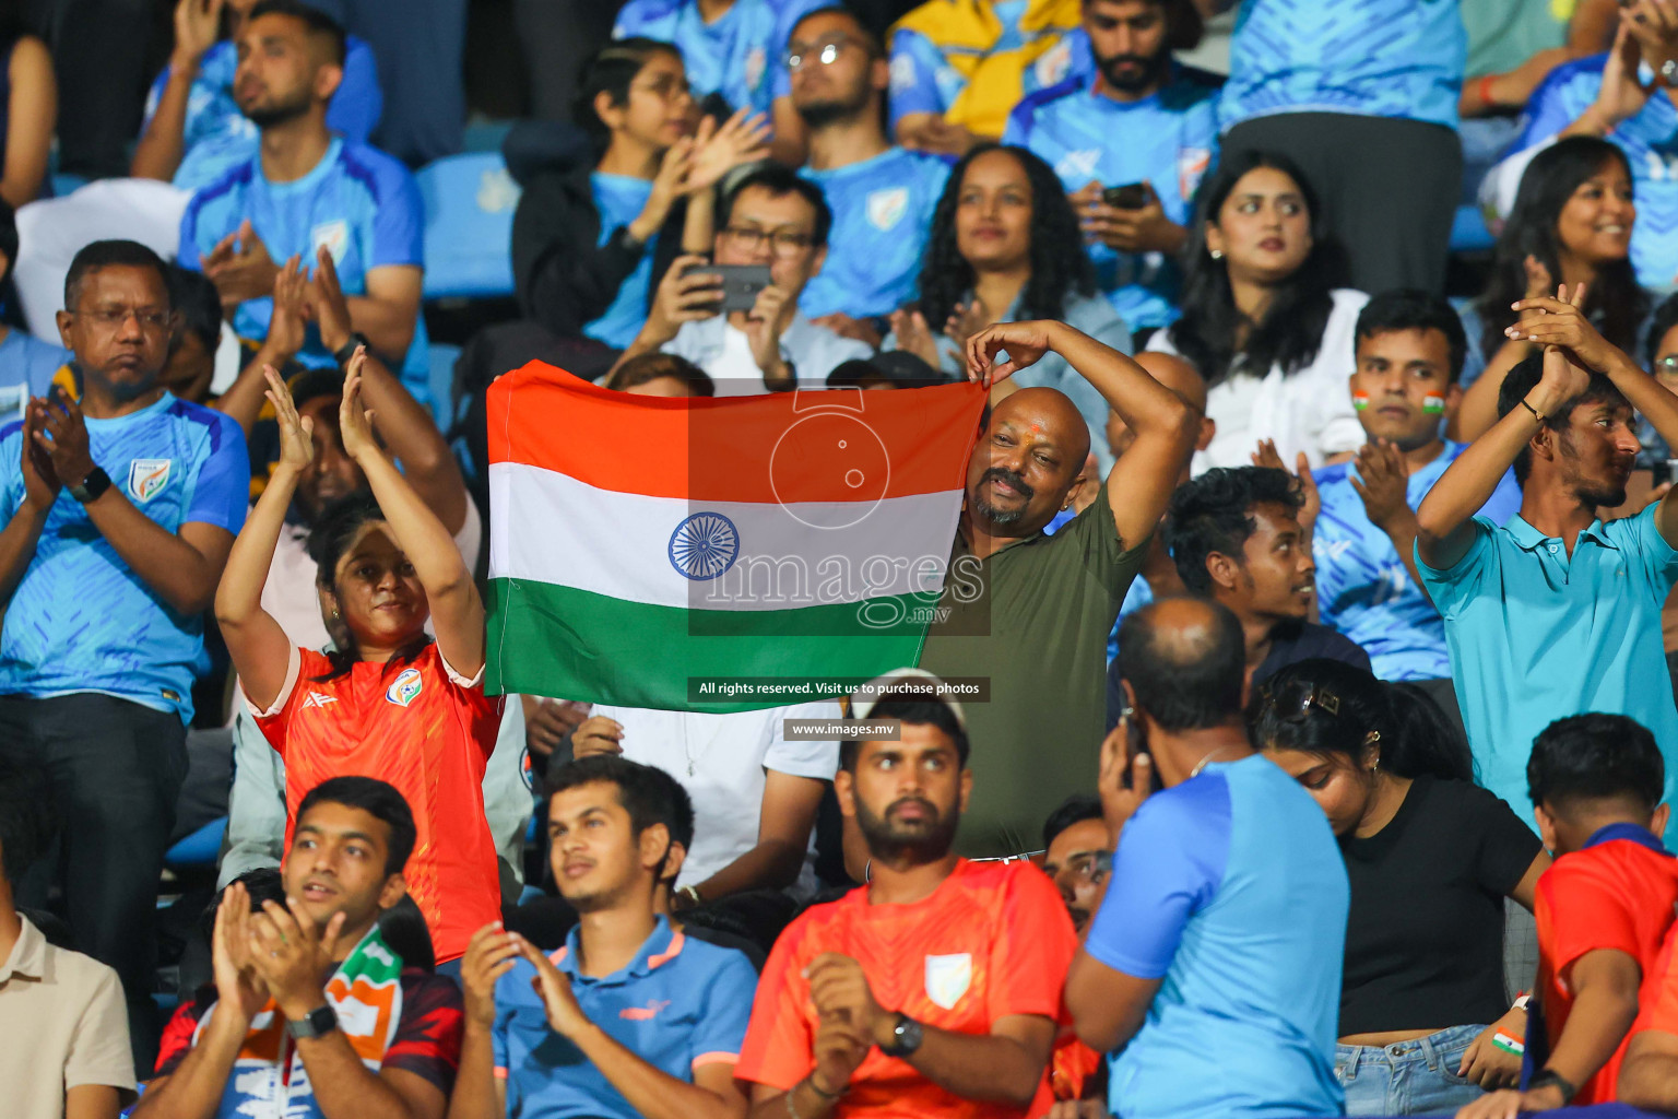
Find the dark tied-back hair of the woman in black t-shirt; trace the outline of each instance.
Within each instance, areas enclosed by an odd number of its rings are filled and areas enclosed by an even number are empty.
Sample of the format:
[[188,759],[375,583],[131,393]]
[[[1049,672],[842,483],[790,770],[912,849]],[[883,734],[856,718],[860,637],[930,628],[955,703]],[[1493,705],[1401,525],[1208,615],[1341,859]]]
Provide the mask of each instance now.
[[1312,658],[1279,671],[1253,690],[1247,728],[1262,750],[1351,758],[1379,735],[1374,742],[1388,773],[1473,780],[1467,740],[1425,691],[1383,684],[1344,661]]

